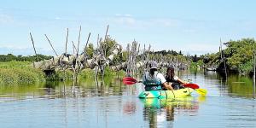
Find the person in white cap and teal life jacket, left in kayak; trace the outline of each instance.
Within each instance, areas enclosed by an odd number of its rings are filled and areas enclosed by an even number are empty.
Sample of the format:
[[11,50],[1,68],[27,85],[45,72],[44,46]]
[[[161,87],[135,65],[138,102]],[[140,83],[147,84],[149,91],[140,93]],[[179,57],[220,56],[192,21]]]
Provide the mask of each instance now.
[[145,90],[173,90],[172,86],[166,83],[166,79],[162,73],[157,72],[157,62],[151,61],[149,63],[149,72],[143,75],[143,84]]

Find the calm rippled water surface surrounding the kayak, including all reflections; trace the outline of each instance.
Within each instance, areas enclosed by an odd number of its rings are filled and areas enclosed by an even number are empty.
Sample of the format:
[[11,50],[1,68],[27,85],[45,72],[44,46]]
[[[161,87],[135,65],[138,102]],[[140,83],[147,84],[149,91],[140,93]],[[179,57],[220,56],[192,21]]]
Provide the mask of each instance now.
[[0,127],[256,127],[253,81],[217,73],[179,73],[207,89],[206,97],[141,100],[142,84],[95,82],[0,87]]

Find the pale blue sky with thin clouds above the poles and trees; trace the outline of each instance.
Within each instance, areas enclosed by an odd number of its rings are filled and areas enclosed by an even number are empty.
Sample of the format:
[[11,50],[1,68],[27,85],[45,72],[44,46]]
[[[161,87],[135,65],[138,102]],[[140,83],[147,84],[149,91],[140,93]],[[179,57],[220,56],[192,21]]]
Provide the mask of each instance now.
[[256,1],[253,0],[8,0],[0,2],[0,54],[33,55],[29,32],[38,53],[54,55],[47,34],[58,54],[64,52],[67,27],[69,48],[81,45],[91,32],[108,34],[124,47],[134,39],[154,50],[182,50],[201,55],[218,51],[219,39],[256,37]]

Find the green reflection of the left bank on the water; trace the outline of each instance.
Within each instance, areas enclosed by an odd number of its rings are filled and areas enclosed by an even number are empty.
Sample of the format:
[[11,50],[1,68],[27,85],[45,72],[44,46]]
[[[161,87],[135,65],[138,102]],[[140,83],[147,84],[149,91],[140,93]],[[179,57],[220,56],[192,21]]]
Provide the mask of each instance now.
[[[121,96],[125,86],[117,77],[106,79],[83,79],[73,81],[46,81],[38,84],[1,85],[0,97],[26,99],[28,96],[42,98]],[[11,97],[11,98],[10,98]]]

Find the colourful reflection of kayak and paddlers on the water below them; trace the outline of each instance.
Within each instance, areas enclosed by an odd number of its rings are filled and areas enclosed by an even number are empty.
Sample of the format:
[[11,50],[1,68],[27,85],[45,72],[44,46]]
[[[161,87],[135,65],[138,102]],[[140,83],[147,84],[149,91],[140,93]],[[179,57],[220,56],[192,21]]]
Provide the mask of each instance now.
[[141,99],[144,103],[143,119],[148,121],[149,127],[172,127],[175,116],[187,114],[195,116],[198,112],[199,102],[205,101],[205,97],[183,97],[176,99]]

